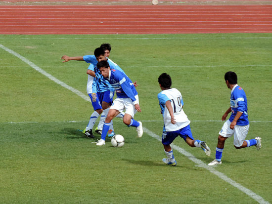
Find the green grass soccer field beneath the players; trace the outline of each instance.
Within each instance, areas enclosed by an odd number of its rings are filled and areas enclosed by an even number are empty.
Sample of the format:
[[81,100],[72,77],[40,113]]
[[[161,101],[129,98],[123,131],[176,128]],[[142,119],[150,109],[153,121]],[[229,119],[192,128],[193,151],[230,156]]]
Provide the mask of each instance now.
[[[272,34],[0,35],[1,45],[84,94],[88,64],[60,58],[93,54],[103,42],[111,43],[110,58],[139,84],[142,113],[135,119],[159,136],[157,79],[163,72],[171,75],[194,138],[205,140],[212,155],[180,138],[175,145],[206,164],[215,158],[220,120],[229,106],[224,74],[236,72],[248,99],[247,139],[261,136],[262,149],[236,150],[230,138],[222,165],[214,169],[261,197],[259,203],[272,203]],[[165,165],[161,142],[149,131],[137,139],[135,128],[119,119],[114,127],[125,137],[122,148],[113,148],[109,138],[106,146],[91,144],[78,131],[93,111],[90,101],[2,48],[0,76],[0,203],[258,203],[177,149],[178,165]]]

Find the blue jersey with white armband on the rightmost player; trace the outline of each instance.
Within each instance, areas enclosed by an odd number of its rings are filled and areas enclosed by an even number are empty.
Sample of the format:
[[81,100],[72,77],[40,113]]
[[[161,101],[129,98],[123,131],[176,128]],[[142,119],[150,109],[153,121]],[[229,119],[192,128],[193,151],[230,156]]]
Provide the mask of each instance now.
[[230,107],[231,116],[229,121],[232,122],[237,112],[242,112],[243,114],[237,121],[237,125],[248,125],[248,113],[247,113],[247,98],[245,91],[237,84],[232,88],[230,94]]

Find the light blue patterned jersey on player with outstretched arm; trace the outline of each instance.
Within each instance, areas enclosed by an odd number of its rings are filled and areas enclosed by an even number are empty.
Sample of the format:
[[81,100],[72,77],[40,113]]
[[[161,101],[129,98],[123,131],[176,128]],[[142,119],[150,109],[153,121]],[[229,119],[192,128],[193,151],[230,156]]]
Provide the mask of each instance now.
[[[105,91],[114,91],[114,88],[110,85],[108,81],[106,81],[103,76],[101,75],[99,69],[96,67],[96,64],[98,63],[96,60],[96,57],[94,55],[85,55],[83,56],[83,59],[91,63],[93,65],[93,68],[91,69],[95,73],[95,80],[96,80],[96,90],[97,92],[105,92]],[[117,69],[125,73],[117,64],[115,64],[112,60],[107,60],[110,66],[110,69]]]

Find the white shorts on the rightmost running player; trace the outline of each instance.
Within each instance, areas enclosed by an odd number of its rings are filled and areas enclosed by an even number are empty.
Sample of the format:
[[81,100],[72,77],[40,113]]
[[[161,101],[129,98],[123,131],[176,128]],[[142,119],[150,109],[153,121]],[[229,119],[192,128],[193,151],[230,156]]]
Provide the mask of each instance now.
[[243,142],[245,141],[246,135],[249,130],[249,124],[240,126],[240,125],[235,125],[234,129],[230,129],[230,124],[231,122],[227,120],[224,124],[222,129],[220,130],[219,134],[222,137],[231,137],[232,135],[234,136],[233,144],[235,147],[241,147]]

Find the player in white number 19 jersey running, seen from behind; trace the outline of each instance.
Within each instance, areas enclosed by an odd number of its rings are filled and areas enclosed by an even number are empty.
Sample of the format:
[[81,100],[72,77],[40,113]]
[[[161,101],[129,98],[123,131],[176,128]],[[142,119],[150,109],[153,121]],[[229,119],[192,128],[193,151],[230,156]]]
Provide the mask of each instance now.
[[176,88],[171,88],[171,77],[163,73],[158,79],[162,91],[158,94],[158,99],[163,115],[164,127],[162,134],[162,144],[167,158],[162,161],[169,165],[177,165],[173,150],[170,144],[178,137],[190,147],[201,147],[207,156],[210,156],[211,150],[204,141],[195,140],[190,129],[190,121],[183,111],[183,100],[181,92]]

